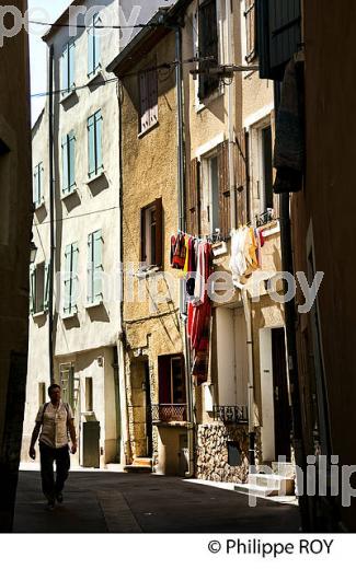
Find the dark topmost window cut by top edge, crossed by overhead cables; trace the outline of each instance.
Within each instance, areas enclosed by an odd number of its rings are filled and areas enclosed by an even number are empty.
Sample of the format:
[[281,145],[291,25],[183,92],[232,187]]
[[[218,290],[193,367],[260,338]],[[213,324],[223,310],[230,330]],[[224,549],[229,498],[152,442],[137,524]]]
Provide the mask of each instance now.
[[204,0],[200,2],[198,20],[199,58],[203,59],[199,61],[199,70],[206,70],[205,73],[199,73],[198,96],[203,101],[219,88],[219,78],[208,73],[209,69],[219,65],[217,0]]

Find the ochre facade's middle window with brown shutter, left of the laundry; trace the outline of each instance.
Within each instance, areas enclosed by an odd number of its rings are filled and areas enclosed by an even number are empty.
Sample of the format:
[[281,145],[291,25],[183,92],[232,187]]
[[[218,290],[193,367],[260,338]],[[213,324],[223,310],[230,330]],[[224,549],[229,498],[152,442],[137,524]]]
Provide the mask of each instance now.
[[141,209],[141,263],[162,266],[162,199]]

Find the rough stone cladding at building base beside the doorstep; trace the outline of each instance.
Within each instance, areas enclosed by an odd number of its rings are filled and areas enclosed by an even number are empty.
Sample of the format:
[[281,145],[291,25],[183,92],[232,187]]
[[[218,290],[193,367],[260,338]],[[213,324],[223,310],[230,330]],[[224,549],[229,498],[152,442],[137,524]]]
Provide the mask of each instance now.
[[[228,463],[228,441],[238,442],[241,466]],[[256,432],[256,463],[261,457],[261,437]],[[249,429],[246,426],[199,425],[196,444],[196,477],[203,480],[245,483],[249,474]]]

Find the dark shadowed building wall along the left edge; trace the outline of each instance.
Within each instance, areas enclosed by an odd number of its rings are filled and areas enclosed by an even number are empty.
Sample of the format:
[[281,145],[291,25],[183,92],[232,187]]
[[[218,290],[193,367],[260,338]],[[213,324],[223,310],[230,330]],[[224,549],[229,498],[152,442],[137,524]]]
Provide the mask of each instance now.
[[[25,13],[26,1],[15,0],[12,4]],[[4,22],[11,27],[10,15]],[[0,531],[8,533],[12,527],[26,390],[32,204],[28,37],[23,30],[3,40],[0,48]]]

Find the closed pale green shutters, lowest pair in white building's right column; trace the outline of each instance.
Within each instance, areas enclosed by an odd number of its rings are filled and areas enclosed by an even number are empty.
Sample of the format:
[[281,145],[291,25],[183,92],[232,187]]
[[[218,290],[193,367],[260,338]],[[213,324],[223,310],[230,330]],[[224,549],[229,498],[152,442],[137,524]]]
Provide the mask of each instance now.
[[95,231],[88,235],[88,294],[89,304],[103,300],[103,235]]

